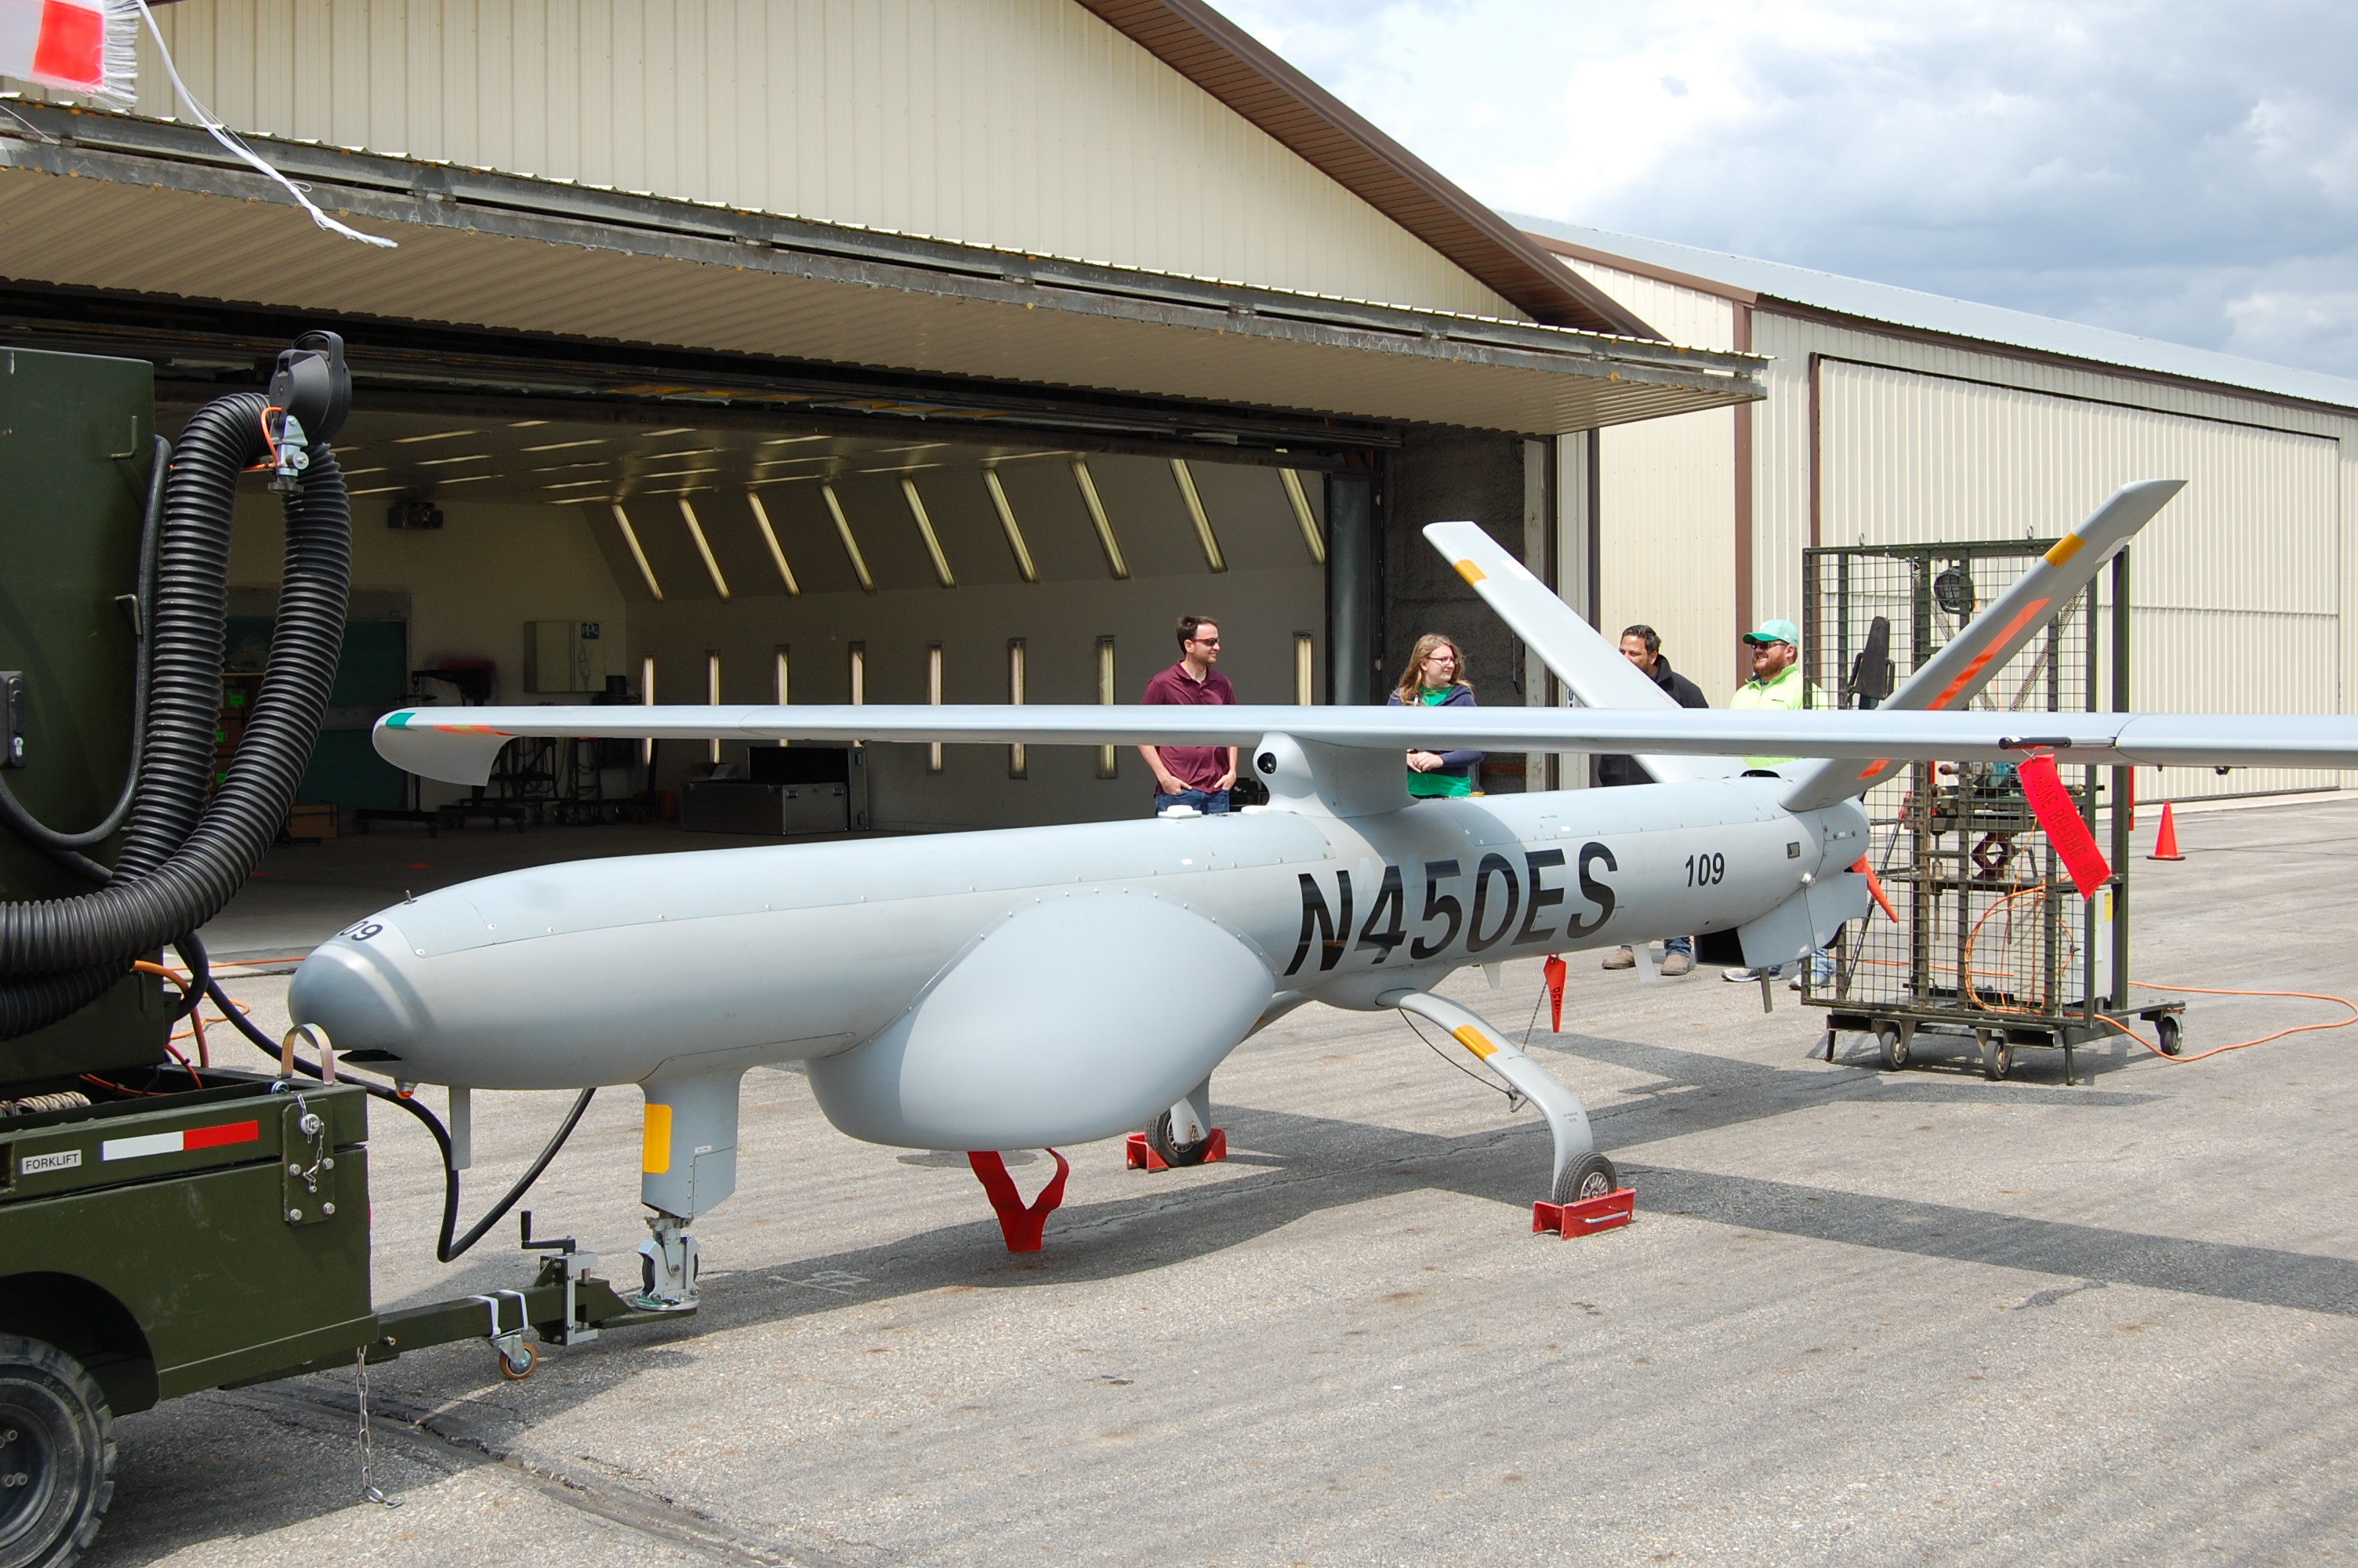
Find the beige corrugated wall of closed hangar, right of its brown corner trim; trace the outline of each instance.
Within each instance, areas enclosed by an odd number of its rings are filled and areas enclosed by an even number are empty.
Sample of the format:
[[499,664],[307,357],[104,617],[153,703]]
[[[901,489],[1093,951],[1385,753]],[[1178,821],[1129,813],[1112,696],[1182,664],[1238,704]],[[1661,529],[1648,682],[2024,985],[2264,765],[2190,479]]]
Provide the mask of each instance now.
[[[1811,538],[1818,356],[1820,538],[2059,533],[2125,479],[2188,479],[2134,549],[2132,703],[2184,712],[2349,712],[2358,637],[2358,415],[2231,389],[1910,342],[1773,314],[1754,410],[1754,604],[1797,615]],[[2139,790],[2250,795],[2358,783],[2172,769]]]

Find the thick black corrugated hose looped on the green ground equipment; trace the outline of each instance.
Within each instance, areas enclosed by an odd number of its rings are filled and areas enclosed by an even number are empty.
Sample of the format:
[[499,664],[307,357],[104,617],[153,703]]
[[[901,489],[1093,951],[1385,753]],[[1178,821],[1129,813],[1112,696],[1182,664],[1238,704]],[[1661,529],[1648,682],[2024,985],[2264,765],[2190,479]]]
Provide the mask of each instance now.
[[106,887],[0,905],[0,1040],[94,1002],[134,957],[210,920],[278,835],[328,710],[351,589],[351,507],[325,441],[285,498],[278,627],[255,714],[212,804],[222,710],[229,528],[238,476],[269,455],[262,394],[217,398],[189,420],[165,481],[149,615],[146,745]]

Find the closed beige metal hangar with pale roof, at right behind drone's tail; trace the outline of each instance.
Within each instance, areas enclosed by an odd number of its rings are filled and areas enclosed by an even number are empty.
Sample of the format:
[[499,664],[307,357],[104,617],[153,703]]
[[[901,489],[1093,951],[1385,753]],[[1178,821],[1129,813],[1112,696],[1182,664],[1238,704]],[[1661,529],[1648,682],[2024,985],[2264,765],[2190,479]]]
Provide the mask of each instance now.
[[[2141,710],[2351,712],[2358,382],[1691,245],[1519,219],[1674,342],[1759,354],[1759,403],[1561,443],[1570,564],[1606,632],[1648,622],[1714,705],[1735,637],[1802,615],[1811,545],[2056,535],[2186,479],[2132,549]],[[1594,474],[1594,483],[1592,476]],[[1594,564],[1589,575],[1580,568]],[[2139,795],[2358,776],[2162,769]]]

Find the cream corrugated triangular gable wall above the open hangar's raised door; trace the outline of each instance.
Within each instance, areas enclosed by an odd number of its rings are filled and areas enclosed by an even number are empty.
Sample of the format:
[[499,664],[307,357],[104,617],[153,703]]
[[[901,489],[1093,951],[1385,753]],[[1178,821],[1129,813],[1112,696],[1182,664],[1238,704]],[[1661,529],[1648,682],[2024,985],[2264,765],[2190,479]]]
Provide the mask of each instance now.
[[[205,0],[158,19],[238,130],[1519,316],[1071,0]],[[141,54],[139,113],[177,113]]]

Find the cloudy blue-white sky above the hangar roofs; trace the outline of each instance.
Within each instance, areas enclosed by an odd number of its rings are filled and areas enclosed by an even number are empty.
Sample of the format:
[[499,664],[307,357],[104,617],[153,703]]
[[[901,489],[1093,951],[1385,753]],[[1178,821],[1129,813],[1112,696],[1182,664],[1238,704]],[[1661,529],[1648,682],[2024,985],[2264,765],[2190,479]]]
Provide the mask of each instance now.
[[1490,207],[2358,377],[2351,0],[1217,0]]

